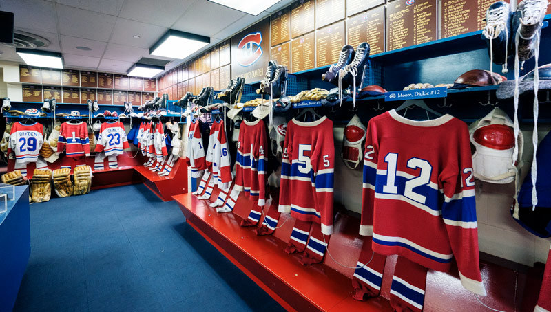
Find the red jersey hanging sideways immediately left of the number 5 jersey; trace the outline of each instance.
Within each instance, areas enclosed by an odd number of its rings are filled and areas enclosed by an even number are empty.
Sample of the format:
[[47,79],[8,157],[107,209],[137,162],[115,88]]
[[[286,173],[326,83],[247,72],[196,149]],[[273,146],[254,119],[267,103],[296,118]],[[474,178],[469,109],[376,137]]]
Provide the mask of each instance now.
[[266,203],[266,168],[269,153],[266,126],[262,120],[243,120],[239,129],[236,159],[236,186],[234,190],[245,191],[245,197],[258,200],[259,206]]

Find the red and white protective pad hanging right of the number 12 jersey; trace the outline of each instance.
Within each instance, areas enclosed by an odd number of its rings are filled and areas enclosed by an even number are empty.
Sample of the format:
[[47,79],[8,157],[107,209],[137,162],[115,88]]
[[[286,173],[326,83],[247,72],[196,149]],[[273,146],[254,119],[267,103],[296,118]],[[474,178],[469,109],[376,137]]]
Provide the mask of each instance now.
[[[512,120],[499,108],[470,125],[470,142],[476,148],[472,155],[475,178],[497,184],[514,181],[519,164],[513,159],[515,142],[512,126]],[[522,134],[519,135],[518,146],[521,159]]]

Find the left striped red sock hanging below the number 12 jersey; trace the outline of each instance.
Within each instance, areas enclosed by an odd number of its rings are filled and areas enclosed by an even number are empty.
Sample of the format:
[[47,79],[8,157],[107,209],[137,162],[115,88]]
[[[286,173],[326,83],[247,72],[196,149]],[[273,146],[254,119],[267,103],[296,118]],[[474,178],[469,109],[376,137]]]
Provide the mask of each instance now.
[[357,268],[352,278],[353,298],[355,300],[376,297],[381,292],[386,256],[373,252],[371,238],[371,236],[364,236],[364,245],[362,245],[360,258],[357,260]]

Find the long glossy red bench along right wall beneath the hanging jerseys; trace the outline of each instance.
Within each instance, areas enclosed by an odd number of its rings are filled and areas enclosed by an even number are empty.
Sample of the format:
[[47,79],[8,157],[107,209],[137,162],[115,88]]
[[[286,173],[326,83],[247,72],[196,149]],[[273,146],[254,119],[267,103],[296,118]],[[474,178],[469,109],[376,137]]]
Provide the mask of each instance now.
[[[211,199],[216,199],[218,191]],[[359,220],[337,213],[335,234],[331,236],[324,263],[303,266],[299,256],[284,252],[294,219],[282,214],[273,235],[256,236],[250,227],[240,227],[251,202],[240,196],[236,209],[219,214],[209,207],[211,201],[199,200],[192,194],[179,194],[174,199],[187,223],[214,245],[222,254],[254,280],[288,311],[393,311],[388,302],[396,256],[388,256],[381,296],[365,302],[353,300],[351,294],[362,237],[357,234]],[[262,220],[260,221],[262,223]],[[334,260],[333,260],[334,259]],[[338,262],[338,263],[337,263]],[[340,264],[339,264],[340,263]],[[346,267],[343,267],[345,265]],[[352,267],[352,268],[350,268]],[[541,285],[541,273],[528,274],[524,269],[511,269],[481,261],[481,272],[488,296],[481,302],[502,311],[533,311]],[[536,285],[534,287],[534,285]],[[450,273],[429,271],[424,311],[489,311],[476,296],[461,286],[457,267]]]

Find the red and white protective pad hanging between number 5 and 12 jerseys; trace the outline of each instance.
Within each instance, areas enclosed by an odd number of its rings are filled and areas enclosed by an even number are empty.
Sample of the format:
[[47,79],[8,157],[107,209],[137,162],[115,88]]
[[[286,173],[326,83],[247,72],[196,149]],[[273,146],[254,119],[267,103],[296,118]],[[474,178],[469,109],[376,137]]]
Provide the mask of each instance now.
[[346,124],[340,153],[346,167],[355,169],[362,161],[364,157],[362,142],[366,139],[366,131],[366,127],[357,115],[354,115]]

